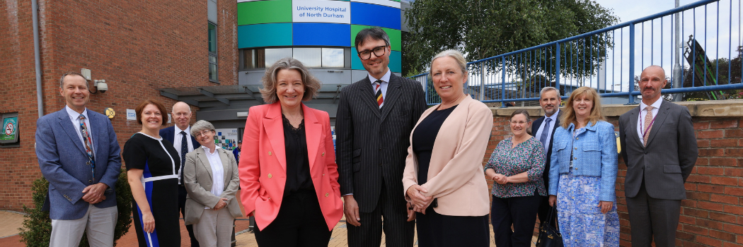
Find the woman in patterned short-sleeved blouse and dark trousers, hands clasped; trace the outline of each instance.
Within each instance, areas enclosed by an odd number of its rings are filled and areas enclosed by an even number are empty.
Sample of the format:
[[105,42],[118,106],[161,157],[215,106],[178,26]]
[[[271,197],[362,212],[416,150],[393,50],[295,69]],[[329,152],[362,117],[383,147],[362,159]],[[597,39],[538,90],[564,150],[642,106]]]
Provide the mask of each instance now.
[[498,144],[485,165],[485,174],[495,181],[490,221],[496,246],[531,246],[539,201],[547,194],[542,180],[545,150],[528,133],[531,119],[527,111],[513,111],[510,129],[513,136]]

